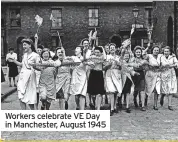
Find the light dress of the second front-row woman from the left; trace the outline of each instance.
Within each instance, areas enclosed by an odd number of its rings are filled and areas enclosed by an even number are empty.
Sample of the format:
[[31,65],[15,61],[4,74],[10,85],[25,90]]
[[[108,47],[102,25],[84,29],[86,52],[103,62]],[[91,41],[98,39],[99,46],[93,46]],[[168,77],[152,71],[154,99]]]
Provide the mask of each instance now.
[[[42,63],[54,63],[54,64],[60,64],[60,61],[42,61]],[[55,100],[56,95],[56,83],[55,83],[55,77],[57,73],[56,67],[47,67],[44,70],[41,71],[40,80],[39,80],[39,95],[40,97],[47,98],[49,102],[52,100]]]

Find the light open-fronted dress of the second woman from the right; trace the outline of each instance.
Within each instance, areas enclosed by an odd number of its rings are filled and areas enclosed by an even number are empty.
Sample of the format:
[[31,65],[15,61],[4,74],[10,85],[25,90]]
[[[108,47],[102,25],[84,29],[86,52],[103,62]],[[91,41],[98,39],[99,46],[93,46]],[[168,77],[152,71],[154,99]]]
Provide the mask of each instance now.
[[158,54],[157,59],[153,57],[152,54],[147,55],[147,61],[149,62],[148,70],[145,75],[145,93],[150,96],[153,91],[160,94],[160,83],[161,83],[161,72],[160,72],[160,57],[162,55]]

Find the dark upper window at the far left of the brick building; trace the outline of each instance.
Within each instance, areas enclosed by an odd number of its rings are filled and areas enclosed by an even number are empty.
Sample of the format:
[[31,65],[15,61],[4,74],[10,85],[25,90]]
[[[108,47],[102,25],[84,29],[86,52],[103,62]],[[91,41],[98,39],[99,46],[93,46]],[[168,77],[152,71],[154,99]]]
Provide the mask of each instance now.
[[21,26],[20,9],[17,9],[17,8],[10,9],[10,25],[11,27]]

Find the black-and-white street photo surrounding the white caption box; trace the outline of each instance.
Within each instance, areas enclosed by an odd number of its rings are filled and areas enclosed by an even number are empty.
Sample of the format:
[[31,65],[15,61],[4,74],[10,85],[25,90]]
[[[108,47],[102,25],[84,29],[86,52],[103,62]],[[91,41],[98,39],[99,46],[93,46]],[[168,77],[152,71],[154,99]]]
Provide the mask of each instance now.
[[5,141],[178,140],[178,1],[2,0],[1,110],[110,118]]

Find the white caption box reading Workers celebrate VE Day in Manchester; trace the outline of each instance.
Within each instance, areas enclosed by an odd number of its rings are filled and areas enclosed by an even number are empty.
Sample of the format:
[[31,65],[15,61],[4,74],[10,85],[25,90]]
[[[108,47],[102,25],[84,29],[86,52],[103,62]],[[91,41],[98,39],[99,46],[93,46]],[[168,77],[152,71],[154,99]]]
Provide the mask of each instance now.
[[110,111],[1,110],[1,131],[110,131]]

